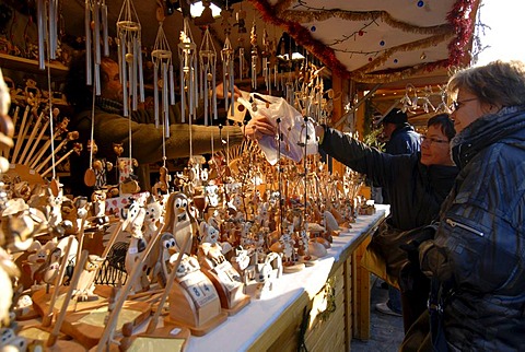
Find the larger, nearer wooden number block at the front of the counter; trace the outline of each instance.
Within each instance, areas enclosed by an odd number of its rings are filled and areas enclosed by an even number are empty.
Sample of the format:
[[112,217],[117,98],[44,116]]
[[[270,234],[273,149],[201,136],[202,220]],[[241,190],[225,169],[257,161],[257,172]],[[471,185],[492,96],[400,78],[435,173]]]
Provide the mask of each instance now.
[[198,268],[197,259],[191,272],[177,278],[170,291],[170,315],[167,322],[182,325],[191,330],[195,336],[203,336],[226,320],[228,314],[221,310],[221,302],[213,283]]

